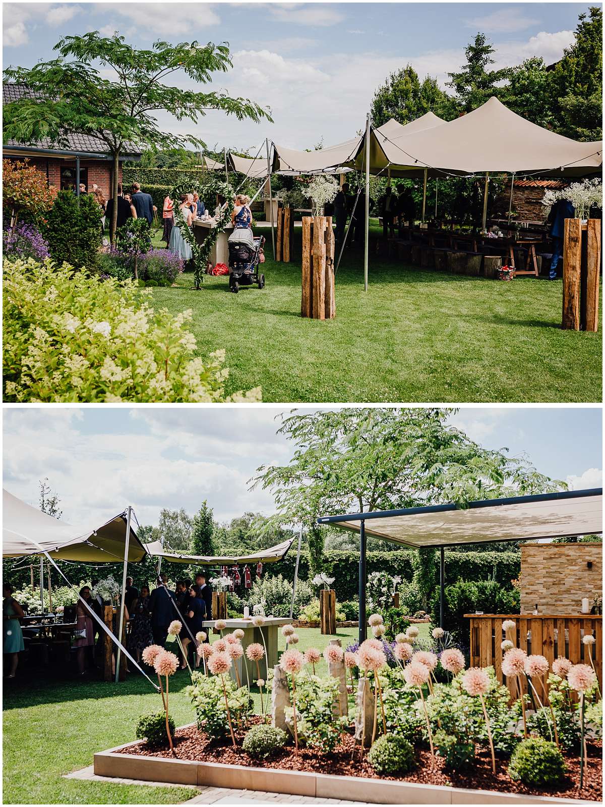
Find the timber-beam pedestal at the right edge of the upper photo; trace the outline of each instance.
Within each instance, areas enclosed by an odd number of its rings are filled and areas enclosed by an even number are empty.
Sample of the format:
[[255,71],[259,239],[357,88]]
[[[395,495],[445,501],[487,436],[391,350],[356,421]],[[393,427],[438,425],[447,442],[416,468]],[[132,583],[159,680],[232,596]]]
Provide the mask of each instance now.
[[565,330],[599,329],[601,222],[565,219],[563,234],[563,316]]

